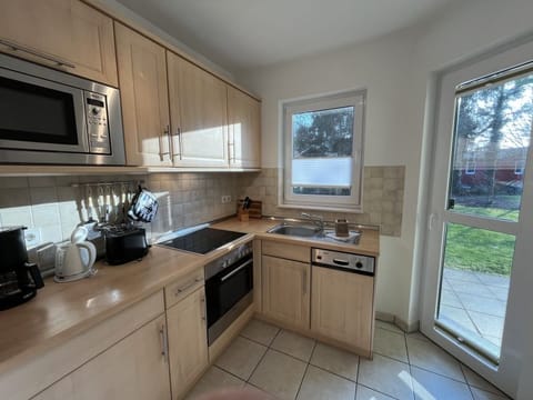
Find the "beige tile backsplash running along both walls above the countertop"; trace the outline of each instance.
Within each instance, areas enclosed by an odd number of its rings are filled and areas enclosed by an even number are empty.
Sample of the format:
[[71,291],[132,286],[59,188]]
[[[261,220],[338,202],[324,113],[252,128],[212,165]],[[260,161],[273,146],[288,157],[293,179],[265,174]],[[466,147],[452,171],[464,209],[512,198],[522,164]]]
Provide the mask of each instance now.
[[[302,210],[278,207],[280,169],[261,172],[152,173],[143,176],[1,177],[0,226],[26,226],[32,243],[59,242],[70,238],[87,221],[87,183],[135,182],[152,191],[159,211],[144,224],[149,237],[235,213],[239,198],[250,196],[263,202],[263,214],[299,217]],[[320,212],[326,220],[348,218],[351,222],[381,226],[381,233],[400,236],[402,226],[404,167],[365,167],[363,213]],[[223,196],[231,201],[222,203]],[[31,247],[31,246],[30,246]]]

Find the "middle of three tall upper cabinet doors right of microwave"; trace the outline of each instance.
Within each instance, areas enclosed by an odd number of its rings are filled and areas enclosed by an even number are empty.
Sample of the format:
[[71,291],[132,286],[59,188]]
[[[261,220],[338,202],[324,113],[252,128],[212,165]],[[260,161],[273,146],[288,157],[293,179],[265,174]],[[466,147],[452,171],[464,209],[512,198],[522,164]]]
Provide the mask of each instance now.
[[167,58],[174,166],[227,168],[225,83],[170,51]]

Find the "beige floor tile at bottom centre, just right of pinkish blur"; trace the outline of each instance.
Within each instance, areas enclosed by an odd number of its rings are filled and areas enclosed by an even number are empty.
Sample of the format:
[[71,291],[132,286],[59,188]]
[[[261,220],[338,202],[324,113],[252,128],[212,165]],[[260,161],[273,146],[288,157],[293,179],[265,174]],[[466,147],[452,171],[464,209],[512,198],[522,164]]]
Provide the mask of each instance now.
[[250,383],[280,399],[294,399],[306,364],[269,349],[250,378]]

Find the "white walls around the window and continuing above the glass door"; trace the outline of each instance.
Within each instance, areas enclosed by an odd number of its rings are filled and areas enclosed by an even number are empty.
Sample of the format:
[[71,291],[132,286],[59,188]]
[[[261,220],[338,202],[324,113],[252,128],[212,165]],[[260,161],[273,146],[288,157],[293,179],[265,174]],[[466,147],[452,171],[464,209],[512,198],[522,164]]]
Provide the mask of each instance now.
[[[456,2],[425,26],[241,73],[243,83],[263,99],[264,167],[281,164],[281,100],[368,89],[364,163],[406,166],[402,236],[381,240],[378,311],[409,323],[419,319],[422,266],[415,248],[424,238],[423,149],[431,144],[429,88],[434,73],[524,34],[532,28],[532,14],[531,0]],[[416,224],[422,229],[416,231]]]

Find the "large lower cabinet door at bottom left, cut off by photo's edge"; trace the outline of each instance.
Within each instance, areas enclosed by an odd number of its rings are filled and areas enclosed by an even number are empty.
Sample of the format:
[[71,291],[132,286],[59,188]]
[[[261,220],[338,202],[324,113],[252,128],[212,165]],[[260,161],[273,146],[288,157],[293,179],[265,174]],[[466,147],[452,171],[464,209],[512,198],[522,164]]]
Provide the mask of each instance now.
[[33,399],[170,399],[164,324],[161,314]]

